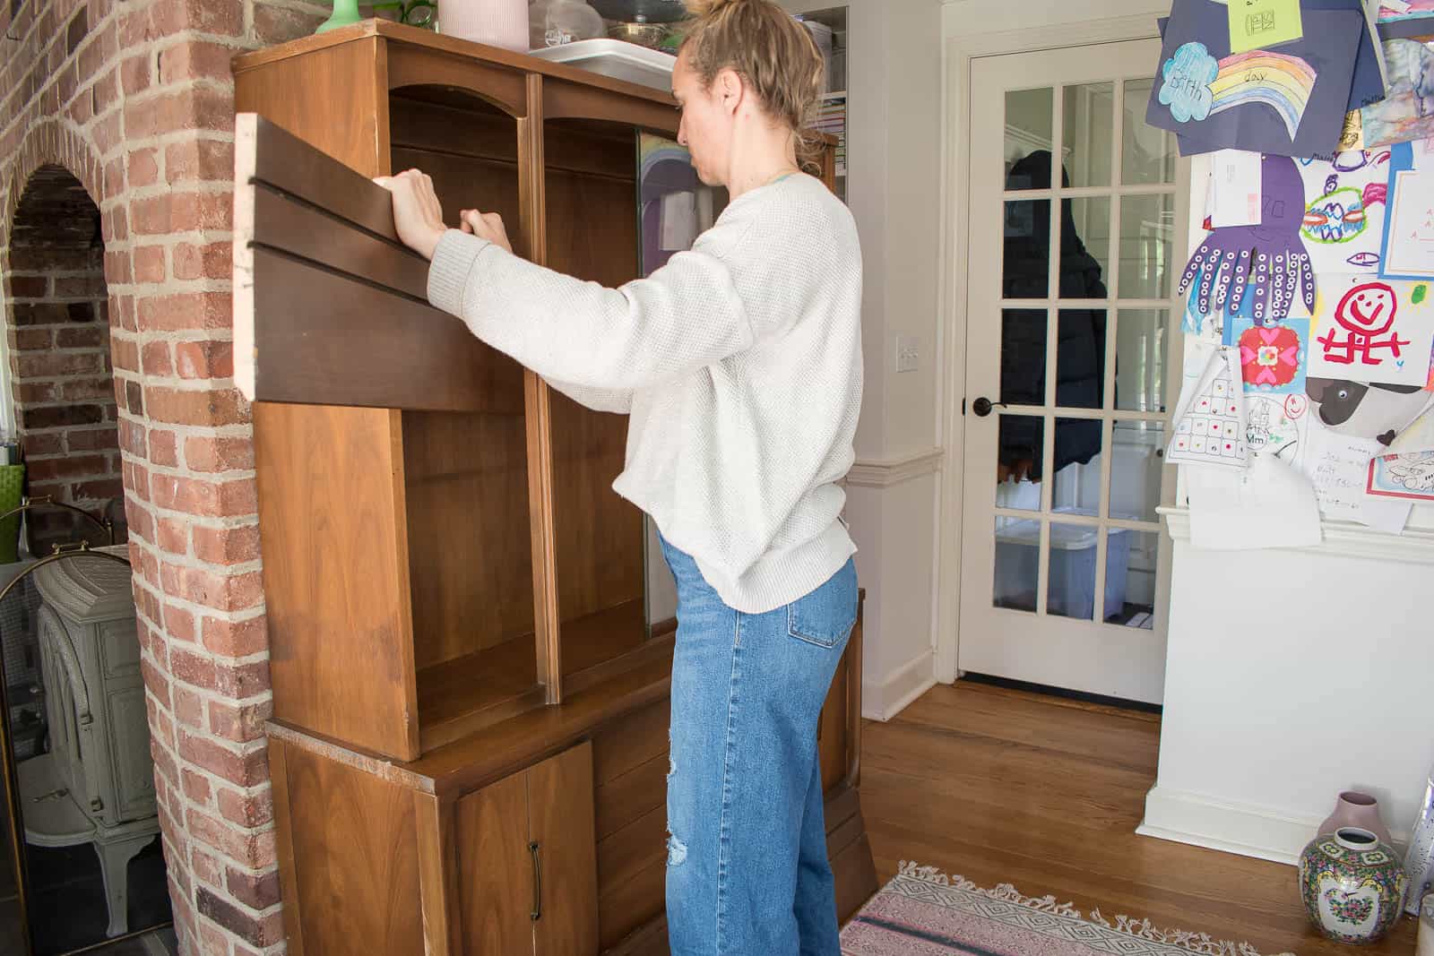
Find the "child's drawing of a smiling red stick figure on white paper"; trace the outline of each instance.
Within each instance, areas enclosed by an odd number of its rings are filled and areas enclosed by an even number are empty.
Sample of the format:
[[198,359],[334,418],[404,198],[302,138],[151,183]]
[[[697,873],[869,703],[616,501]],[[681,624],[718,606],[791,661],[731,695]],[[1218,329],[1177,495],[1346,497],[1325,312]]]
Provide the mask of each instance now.
[[1428,285],[1358,275],[1322,279],[1309,374],[1423,388],[1434,348]]

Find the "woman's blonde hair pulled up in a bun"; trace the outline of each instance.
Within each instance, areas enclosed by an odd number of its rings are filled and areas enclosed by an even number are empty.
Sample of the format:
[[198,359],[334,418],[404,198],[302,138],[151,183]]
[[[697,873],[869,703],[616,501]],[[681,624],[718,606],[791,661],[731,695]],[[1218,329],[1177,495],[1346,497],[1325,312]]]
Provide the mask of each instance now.
[[731,67],[767,113],[797,138],[797,159],[820,166],[822,138],[810,129],[826,86],[826,64],[806,27],[773,0],[687,0],[693,20],[683,52],[703,86]]

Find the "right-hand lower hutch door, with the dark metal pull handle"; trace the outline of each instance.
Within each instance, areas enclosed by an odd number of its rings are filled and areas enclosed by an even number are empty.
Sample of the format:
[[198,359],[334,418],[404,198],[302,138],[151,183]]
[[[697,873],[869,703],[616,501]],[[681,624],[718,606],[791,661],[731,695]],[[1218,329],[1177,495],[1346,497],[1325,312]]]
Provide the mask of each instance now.
[[538,956],[597,956],[598,863],[592,744],[528,771],[529,837],[542,893],[533,923]]

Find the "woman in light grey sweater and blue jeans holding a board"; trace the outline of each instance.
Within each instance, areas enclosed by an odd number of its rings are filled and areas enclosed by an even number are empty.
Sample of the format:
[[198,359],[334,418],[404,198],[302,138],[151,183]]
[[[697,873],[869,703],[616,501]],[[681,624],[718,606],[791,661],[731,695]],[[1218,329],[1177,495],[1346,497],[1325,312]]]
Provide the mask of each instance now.
[[614,489],[678,586],[667,784],[674,956],[836,956],[817,718],[856,621],[836,482],[862,391],[852,216],[797,165],[822,59],[771,0],[688,4],[678,142],[730,204],[690,252],[607,290],[443,225],[432,181],[381,178],[429,298],[592,408],[631,416]]

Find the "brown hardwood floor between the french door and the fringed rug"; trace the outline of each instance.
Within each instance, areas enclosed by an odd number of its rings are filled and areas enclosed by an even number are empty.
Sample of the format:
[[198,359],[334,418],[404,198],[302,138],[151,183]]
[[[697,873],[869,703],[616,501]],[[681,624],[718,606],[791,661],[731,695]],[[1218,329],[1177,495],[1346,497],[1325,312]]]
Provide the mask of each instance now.
[[[1293,867],[1136,836],[1157,717],[958,682],[862,734],[862,810],[882,883],[916,860],[1111,920],[1245,940],[1265,956],[1355,952],[1306,927]],[[1358,952],[1411,956],[1414,937],[1405,916]]]

